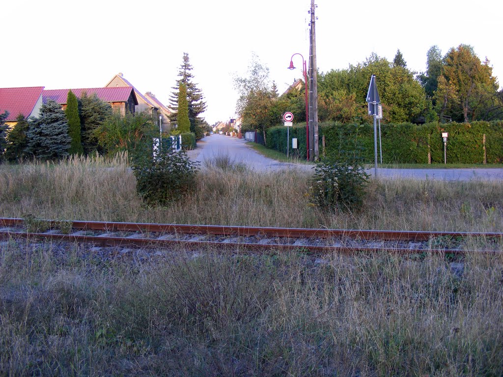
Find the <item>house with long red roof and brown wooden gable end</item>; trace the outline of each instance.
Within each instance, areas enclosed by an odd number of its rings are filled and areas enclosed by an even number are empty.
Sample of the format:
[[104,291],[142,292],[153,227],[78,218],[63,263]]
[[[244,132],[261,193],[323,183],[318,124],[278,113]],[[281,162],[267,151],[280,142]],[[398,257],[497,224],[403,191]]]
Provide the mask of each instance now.
[[96,96],[112,106],[112,110],[119,112],[121,115],[126,113],[134,114],[138,100],[132,86],[124,87],[92,87],[78,89],[52,89],[42,92],[42,100],[47,103],[48,100],[53,100],[61,105],[61,108],[66,109],[66,100],[68,91],[71,90],[77,98],[81,98],[84,93],[88,96]]

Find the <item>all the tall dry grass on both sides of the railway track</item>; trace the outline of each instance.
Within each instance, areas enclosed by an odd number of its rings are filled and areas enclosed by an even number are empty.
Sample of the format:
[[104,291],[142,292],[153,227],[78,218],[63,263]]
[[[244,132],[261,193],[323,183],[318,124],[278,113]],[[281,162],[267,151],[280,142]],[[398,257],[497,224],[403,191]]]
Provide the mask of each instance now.
[[[503,229],[496,183],[372,181],[355,214],[323,214],[307,192],[304,173],[224,164],[192,198],[145,208],[125,157],[0,166],[1,216]],[[110,259],[24,242],[0,244],[0,375],[503,374],[502,255]]]

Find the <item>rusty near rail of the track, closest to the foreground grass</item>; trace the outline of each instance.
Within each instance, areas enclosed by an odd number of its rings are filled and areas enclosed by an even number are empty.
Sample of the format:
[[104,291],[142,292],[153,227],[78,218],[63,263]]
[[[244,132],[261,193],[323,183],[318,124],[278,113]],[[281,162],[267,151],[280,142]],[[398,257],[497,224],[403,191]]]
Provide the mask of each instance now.
[[[330,245],[292,245],[292,244],[259,244],[259,243],[240,243],[240,242],[215,242],[215,241],[191,241],[191,240],[165,240],[155,238],[124,238],[112,236],[86,236],[72,234],[54,234],[54,233],[27,233],[27,232],[9,232],[0,231],[0,239],[9,239],[11,237],[20,237],[25,239],[46,239],[51,241],[90,243],[101,246],[136,246],[160,248],[166,246],[179,246],[187,248],[215,247],[232,249],[251,250],[263,252],[267,250],[277,251],[301,251],[309,254],[321,254],[327,252],[337,252],[351,254],[354,252],[393,252],[399,254],[418,254],[418,253],[437,253],[437,254],[464,254],[466,250],[459,249],[418,249],[418,248],[392,248],[392,247],[366,247],[366,246],[330,246]],[[483,250],[480,253],[496,253],[493,250]]]

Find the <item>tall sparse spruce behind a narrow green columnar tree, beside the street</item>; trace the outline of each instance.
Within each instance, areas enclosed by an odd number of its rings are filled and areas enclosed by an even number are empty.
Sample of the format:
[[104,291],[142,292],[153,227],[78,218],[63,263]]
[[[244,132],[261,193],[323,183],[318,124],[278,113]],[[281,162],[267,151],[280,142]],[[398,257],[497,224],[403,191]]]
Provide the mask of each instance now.
[[175,89],[170,97],[170,105],[176,111],[170,116],[170,120],[174,123],[178,122],[178,98],[179,98],[179,87],[183,83],[187,87],[187,100],[189,104],[189,121],[190,121],[190,131],[196,133],[197,126],[204,121],[204,118],[199,117],[201,113],[206,110],[206,102],[203,101],[204,96],[201,89],[199,89],[195,83],[192,82],[194,76],[191,73],[192,65],[189,63],[189,54],[184,52],[183,63],[180,66],[180,72],[177,80],[177,86],[172,87]]

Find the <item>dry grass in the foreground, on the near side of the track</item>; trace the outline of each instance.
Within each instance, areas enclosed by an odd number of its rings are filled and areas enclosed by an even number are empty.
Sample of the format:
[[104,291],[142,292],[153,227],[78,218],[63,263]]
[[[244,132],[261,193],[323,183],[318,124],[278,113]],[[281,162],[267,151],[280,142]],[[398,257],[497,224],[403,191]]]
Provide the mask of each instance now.
[[0,374],[503,372],[501,256],[82,252],[2,247]]

